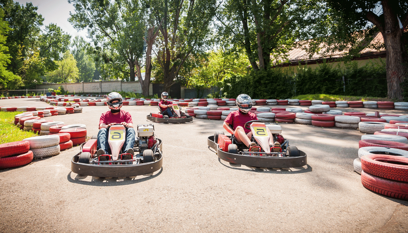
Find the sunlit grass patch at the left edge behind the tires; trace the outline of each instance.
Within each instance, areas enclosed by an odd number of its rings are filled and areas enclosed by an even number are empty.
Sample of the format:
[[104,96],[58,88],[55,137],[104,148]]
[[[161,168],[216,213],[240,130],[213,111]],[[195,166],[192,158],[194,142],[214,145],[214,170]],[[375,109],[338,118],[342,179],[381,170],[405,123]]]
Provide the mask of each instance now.
[[22,131],[14,124],[14,116],[18,113],[21,112],[0,112],[0,144],[37,136],[32,131]]

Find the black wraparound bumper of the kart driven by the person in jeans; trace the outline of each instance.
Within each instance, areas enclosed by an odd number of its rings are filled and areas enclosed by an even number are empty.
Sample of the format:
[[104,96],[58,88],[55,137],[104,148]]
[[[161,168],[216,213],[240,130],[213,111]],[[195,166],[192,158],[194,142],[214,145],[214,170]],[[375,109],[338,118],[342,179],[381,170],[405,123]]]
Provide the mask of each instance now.
[[160,149],[156,152],[158,158],[155,162],[134,165],[83,164],[78,162],[79,155],[82,153],[81,149],[81,151],[74,155],[71,159],[71,171],[80,175],[90,175],[96,177],[129,177],[153,173],[162,168],[163,164],[163,155],[161,152],[162,141],[157,139],[157,142],[159,143]]

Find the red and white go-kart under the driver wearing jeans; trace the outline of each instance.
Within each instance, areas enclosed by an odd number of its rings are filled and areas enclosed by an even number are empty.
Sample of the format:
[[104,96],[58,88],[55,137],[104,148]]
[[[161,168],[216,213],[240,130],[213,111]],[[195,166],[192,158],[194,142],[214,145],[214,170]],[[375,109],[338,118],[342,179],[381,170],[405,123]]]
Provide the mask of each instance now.
[[129,177],[153,173],[162,167],[162,141],[154,136],[153,124],[137,125],[135,155],[121,153],[126,128],[122,124],[109,127],[111,154],[96,155],[97,136],[80,145],[80,152],[71,160],[71,171],[96,177]]

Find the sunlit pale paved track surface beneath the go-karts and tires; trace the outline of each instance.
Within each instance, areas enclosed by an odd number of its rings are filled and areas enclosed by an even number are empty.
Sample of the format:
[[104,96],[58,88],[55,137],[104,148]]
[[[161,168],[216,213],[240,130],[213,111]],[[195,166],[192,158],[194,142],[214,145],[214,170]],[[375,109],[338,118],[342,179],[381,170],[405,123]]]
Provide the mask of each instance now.
[[[48,106],[38,98],[0,100],[0,105]],[[158,111],[122,109],[135,125],[149,123],[146,115]],[[86,124],[91,137],[105,111],[106,106],[84,107],[82,113],[47,120]],[[258,169],[232,166],[208,148],[207,137],[223,130],[221,120],[154,124],[163,141],[163,167],[153,175],[78,175],[71,172],[78,146],[0,170],[0,232],[408,232],[408,202],[369,191],[353,171],[363,135],[358,130],[281,124],[290,144],[306,152],[308,164]]]

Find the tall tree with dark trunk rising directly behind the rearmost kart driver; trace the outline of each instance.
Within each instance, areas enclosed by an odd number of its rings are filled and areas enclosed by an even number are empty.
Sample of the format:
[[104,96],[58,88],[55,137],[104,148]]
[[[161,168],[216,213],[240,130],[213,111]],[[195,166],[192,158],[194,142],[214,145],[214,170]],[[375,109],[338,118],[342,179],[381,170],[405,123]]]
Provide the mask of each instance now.
[[164,91],[169,91],[188,59],[200,57],[211,42],[215,0],[164,0],[155,2],[156,24],[163,20],[158,36],[157,64],[163,71]]

